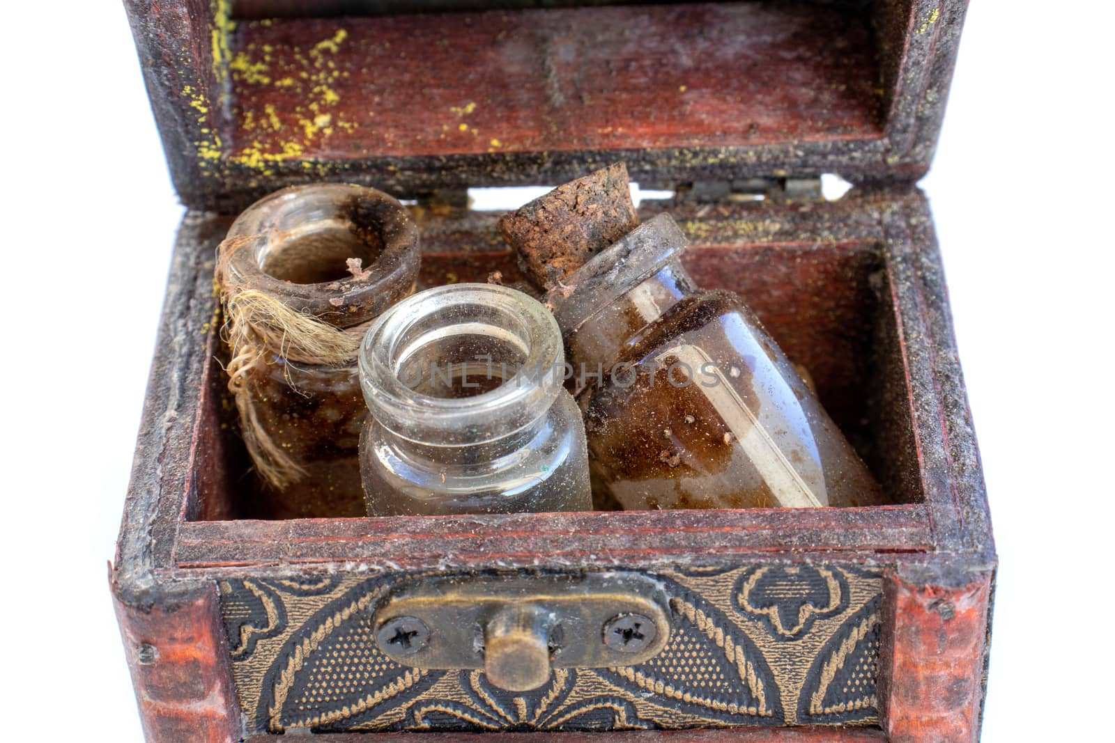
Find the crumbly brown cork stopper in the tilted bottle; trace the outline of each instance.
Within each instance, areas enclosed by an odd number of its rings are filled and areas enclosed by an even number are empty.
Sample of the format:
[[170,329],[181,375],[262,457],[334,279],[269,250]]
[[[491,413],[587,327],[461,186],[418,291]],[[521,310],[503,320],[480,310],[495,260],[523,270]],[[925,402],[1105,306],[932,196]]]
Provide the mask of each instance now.
[[504,215],[498,229],[526,277],[550,291],[637,226],[627,166],[615,163]]

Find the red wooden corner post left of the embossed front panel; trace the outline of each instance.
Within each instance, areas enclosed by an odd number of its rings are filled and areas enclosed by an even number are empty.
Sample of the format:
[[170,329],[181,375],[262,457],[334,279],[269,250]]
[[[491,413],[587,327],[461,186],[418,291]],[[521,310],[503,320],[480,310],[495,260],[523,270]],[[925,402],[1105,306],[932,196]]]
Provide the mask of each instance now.
[[216,586],[149,607],[119,597],[115,604],[148,743],[239,741],[243,726]]

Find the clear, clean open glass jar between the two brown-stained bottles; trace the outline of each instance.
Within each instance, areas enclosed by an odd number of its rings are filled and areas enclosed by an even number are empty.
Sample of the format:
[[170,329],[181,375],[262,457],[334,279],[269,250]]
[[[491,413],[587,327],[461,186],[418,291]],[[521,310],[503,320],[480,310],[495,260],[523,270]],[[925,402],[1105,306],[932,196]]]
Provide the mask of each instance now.
[[561,332],[522,292],[450,284],[385,312],[360,346],[370,516],[590,510]]

